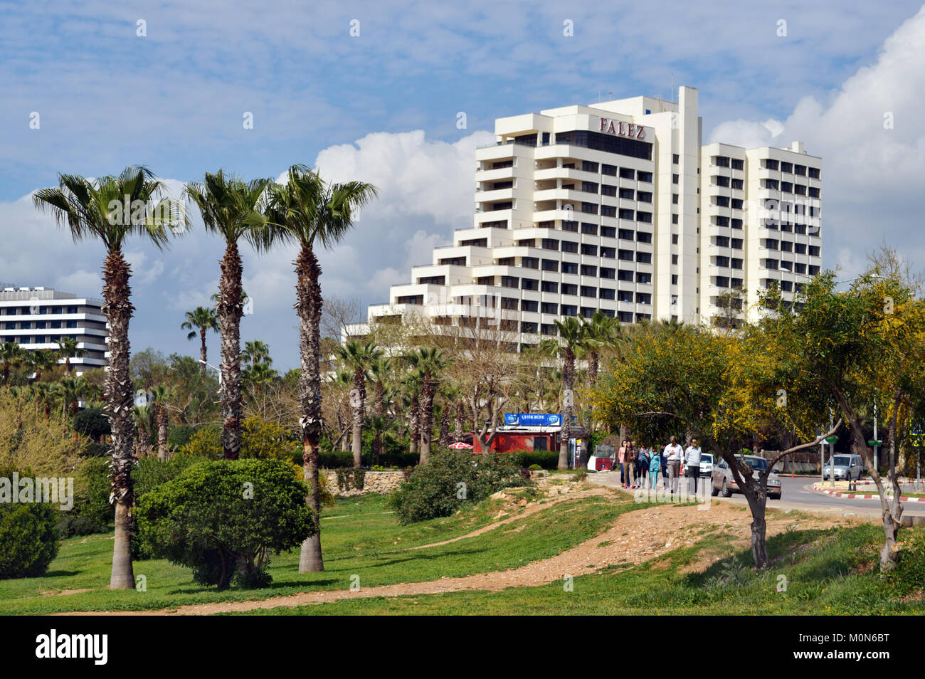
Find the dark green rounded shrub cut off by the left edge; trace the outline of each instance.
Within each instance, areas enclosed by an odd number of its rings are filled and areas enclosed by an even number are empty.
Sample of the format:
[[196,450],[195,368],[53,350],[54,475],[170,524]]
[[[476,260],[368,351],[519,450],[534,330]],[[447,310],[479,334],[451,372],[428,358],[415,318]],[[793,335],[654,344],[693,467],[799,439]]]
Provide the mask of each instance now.
[[[29,469],[0,469],[0,476],[12,478],[32,476]],[[0,502],[0,580],[13,577],[35,577],[48,570],[57,555],[56,504],[46,502]]]

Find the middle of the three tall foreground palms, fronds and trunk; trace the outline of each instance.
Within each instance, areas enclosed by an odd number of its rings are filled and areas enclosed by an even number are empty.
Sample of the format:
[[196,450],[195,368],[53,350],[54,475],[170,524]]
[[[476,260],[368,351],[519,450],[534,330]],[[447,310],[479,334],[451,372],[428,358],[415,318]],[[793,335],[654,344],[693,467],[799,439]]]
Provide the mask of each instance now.
[[244,216],[258,207],[269,183],[270,179],[247,183],[218,170],[216,174],[206,172],[203,183],[187,184],[183,190],[199,208],[205,230],[225,240],[217,307],[222,356],[222,447],[226,460],[237,460],[240,454],[240,318],[244,315],[244,301],[238,243],[256,245],[255,229],[244,222]]

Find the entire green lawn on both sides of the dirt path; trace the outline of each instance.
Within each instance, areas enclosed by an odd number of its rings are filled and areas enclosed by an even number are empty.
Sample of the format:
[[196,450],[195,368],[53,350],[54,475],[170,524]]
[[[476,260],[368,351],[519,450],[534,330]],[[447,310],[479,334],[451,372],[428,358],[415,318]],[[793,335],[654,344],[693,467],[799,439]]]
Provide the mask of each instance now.
[[[524,492],[524,491],[521,491]],[[450,518],[401,526],[387,500],[366,496],[339,500],[322,519],[324,573],[299,574],[298,552],[281,554],[270,565],[273,585],[260,590],[216,591],[196,585],[191,572],[166,561],[135,563],[147,591],[109,591],[112,535],[76,537],[62,544],[48,573],[0,581],[0,613],[125,611],[173,608],[184,604],[266,599],[302,591],[348,589],[351,575],[361,587],[437,580],[517,567],[560,553],[594,537],[623,512],[642,509],[631,497],[613,494],[561,504],[512,521],[481,536],[426,549],[492,523],[499,501],[488,500]],[[746,521],[746,514],[743,514]],[[573,591],[561,583],[499,592],[458,592],[394,599],[344,599],[255,614],[843,614],[925,612],[925,527],[906,529],[904,559],[893,580],[876,568],[882,531],[861,525],[837,531],[793,531],[769,540],[775,567],[753,573],[750,553],[740,567],[714,563],[692,568],[704,553],[729,551],[721,525],[701,531],[692,547],[675,549],[638,566],[611,566],[574,578]],[[686,571],[691,571],[690,573]],[[777,592],[781,580],[789,581]],[[63,590],[91,591],[58,594]]]

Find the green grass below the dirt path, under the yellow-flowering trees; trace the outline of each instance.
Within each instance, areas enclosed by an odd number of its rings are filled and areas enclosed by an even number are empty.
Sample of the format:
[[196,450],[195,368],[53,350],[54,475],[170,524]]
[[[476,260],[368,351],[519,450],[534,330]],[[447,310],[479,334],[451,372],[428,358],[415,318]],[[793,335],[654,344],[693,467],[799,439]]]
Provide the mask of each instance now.
[[[882,530],[862,525],[840,530],[794,531],[771,537],[775,567],[763,574],[743,567],[750,552],[706,571],[682,573],[702,549],[722,547],[720,535],[694,547],[630,568],[536,587],[498,592],[465,591],[340,601],[253,611],[257,615],[843,615],[923,614],[925,529],[904,531],[905,562],[893,579],[876,568]],[[872,561],[871,561],[872,560]],[[871,569],[871,565],[873,568]],[[782,576],[783,578],[779,577]],[[778,592],[786,582],[786,591]]]

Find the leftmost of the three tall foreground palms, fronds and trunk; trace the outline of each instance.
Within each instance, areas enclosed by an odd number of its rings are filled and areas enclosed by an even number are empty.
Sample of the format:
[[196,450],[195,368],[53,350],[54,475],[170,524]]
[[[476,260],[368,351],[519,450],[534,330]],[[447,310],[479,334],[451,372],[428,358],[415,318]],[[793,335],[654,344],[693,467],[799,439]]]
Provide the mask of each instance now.
[[[126,167],[118,177],[93,181],[76,175],[59,175],[58,179],[58,188],[41,189],[32,195],[35,207],[51,212],[58,226],[67,225],[74,241],[96,239],[106,249],[103,313],[109,322],[109,370],[105,377],[105,400],[112,427],[111,475],[116,501],[116,540],[109,586],[134,589],[129,549],[129,511],[134,501],[131,482],[134,393],[129,377],[129,319],[134,308],[130,302],[131,267],[122,248],[129,236],[140,236],[163,248],[167,242],[166,229],[186,228],[189,220],[179,203],[161,198],[166,187],[154,179],[147,167]],[[127,203],[125,210],[123,202]]]

